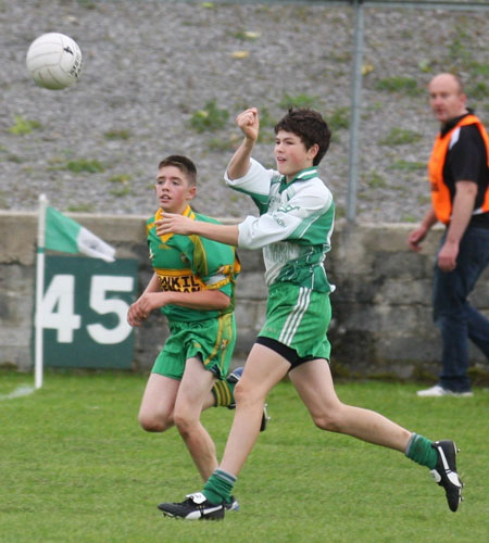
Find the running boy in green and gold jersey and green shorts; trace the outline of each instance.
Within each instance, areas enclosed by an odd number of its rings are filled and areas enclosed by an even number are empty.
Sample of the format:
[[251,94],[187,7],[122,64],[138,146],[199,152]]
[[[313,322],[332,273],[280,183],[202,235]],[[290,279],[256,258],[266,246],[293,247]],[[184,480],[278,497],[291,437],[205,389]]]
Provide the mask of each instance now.
[[154,362],[139,422],[154,432],[175,424],[205,481],[217,459],[200,414],[212,405],[234,403],[235,383],[226,376],[236,343],[235,279],[240,265],[233,247],[199,236],[158,236],[154,226],[168,212],[213,220],[189,205],[196,178],[196,167],[185,156],[172,155],[159,165],[160,209],[146,228],[154,273],[127,319],[140,326],[156,308],[168,319],[171,334]]

